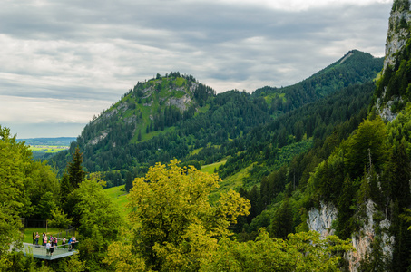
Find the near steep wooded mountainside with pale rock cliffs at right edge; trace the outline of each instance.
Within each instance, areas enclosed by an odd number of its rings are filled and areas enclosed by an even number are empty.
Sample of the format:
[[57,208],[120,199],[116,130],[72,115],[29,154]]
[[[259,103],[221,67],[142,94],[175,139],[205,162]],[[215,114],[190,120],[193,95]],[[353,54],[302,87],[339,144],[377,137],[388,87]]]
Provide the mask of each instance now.
[[[346,121],[334,127],[324,141],[263,175],[259,186],[240,189],[251,202],[250,216],[235,227],[240,239],[255,238],[259,228],[268,228],[274,237],[315,230],[323,238],[350,239],[356,251],[343,257],[342,270],[409,271],[410,23],[410,2],[394,1],[385,65],[374,91],[368,92],[366,114],[356,117],[363,116],[359,124]],[[254,139],[264,139],[260,136]]]

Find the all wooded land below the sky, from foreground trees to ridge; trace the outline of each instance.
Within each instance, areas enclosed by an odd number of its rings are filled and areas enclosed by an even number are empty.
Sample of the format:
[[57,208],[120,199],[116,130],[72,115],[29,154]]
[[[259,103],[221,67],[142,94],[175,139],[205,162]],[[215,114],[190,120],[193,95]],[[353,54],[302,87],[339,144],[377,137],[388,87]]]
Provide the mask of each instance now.
[[[394,2],[388,37],[409,30],[409,8]],[[404,44],[384,68],[354,50],[251,94],[157,74],[49,162],[0,127],[0,269],[409,271],[411,35]],[[127,208],[103,189],[122,184]],[[325,232],[310,230],[321,216]],[[78,254],[24,257],[20,218],[75,227]]]

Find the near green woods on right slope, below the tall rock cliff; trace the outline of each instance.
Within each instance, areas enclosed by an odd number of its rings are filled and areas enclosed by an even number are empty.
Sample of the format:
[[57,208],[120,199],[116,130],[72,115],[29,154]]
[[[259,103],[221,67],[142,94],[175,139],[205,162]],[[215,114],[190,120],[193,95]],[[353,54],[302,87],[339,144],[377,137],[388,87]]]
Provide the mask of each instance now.
[[[259,228],[267,228],[278,238],[306,231],[308,210],[332,203],[338,209],[333,228],[339,238],[360,236],[368,220],[373,222],[372,250],[361,261],[361,270],[406,271],[410,267],[411,106],[387,124],[374,112],[352,133],[348,123],[265,176],[259,187],[240,189],[240,195],[250,199],[251,209],[234,227],[238,238],[254,239]],[[396,239],[390,244],[392,258],[382,251],[382,245],[387,245],[385,236]]]

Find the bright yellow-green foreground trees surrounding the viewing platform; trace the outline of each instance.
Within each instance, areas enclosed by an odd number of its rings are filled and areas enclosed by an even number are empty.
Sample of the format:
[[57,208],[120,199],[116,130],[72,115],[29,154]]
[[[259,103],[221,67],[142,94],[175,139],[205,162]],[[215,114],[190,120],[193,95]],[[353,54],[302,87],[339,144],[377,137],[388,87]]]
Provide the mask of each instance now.
[[[51,168],[31,160],[28,147],[7,129],[0,128],[0,135],[0,201],[7,208],[0,209],[2,271],[336,270],[351,249],[349,241],[321,239],[314,232],[277,239],[261,229],[258,241],[232,240],[229,227],[248,214],[249,201],[231,190],[211,205],[210,192],[220,179],[193,167],[183,169],[177,160],[158,163],[134,180],[130,209],[121,211],[99,175],[86,177],[79,149],[57,181]],[[44,183],[44,176],[56,186]],[[36,203],[38,192],[42,196]],[[19,218],[33,216],[35,209],[42,212],[36,217],[43,214],[51,227],[77,228],[78,254],[44,262],[19,250]]]

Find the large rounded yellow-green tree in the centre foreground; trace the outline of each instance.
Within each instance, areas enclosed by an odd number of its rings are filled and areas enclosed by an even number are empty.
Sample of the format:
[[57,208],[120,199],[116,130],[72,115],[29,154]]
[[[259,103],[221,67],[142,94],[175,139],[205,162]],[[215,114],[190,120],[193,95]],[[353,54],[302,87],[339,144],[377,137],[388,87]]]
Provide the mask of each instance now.
[[230,190],[211,205],[210,192],[220,179],[178,163],[157,163],[145,178],[134,180],[129,195],[135,241],[131,250],[147,267],[192,271],[216,249],[217,238],[230,235],[228,227],[248,214],[250,202]]

